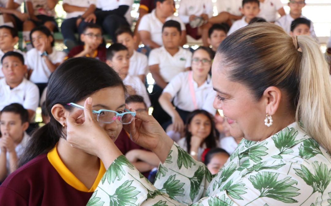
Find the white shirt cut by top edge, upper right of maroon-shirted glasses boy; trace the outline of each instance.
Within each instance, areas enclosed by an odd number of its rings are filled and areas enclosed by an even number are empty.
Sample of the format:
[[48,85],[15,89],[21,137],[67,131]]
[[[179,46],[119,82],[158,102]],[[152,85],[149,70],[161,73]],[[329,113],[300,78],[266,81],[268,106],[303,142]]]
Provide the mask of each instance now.
[[132,4],[134,0],[97,0],[97,8],[102,9],[102,11],[111,11],[117,9],[121,5],[129,6],[129,9],[125,13],[124,17],[126,18],[127,22],[131,25],[132,24]]

